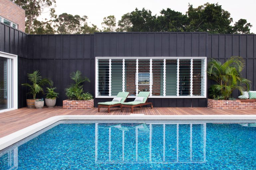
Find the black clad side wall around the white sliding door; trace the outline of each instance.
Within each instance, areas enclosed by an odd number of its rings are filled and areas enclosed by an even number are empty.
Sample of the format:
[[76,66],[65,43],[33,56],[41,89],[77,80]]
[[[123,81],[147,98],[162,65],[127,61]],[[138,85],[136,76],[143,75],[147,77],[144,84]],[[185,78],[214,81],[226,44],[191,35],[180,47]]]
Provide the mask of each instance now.
[[18,107],[26,107],[28,60],[28,35],[0,22],[0,51],[18,56]]

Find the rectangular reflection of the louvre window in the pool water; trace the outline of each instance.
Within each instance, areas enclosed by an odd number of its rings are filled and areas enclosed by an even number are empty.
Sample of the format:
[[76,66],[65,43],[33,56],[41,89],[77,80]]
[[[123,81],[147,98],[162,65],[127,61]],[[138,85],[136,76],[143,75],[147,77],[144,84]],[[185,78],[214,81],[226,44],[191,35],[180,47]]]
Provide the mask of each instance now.
[[206,123],[95,124],[95,163],[205,163],[205,146]]

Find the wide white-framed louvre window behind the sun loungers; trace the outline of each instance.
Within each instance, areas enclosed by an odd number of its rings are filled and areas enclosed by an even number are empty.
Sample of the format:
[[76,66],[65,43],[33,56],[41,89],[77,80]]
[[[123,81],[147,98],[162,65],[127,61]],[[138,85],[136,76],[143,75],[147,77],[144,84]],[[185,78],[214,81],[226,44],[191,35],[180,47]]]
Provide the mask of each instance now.
[[96,98],[149,91],[152,98],[205,98],[205,57],[96,57]]

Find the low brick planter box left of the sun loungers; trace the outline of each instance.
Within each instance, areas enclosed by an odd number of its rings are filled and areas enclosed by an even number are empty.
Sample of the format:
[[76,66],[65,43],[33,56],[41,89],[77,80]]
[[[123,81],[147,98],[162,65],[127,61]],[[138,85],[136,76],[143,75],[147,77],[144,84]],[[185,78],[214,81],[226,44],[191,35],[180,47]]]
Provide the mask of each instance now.
[[64,109],[91,109],[94,107],[94,100],[64,100]]

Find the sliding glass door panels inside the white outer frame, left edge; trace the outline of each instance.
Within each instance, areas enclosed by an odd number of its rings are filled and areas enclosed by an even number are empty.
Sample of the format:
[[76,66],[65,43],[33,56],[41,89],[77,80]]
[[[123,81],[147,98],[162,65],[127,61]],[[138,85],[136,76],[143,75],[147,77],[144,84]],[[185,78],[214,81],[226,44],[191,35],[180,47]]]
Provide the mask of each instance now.
[[0,57],[0,110],[12,108],[12,59]]

